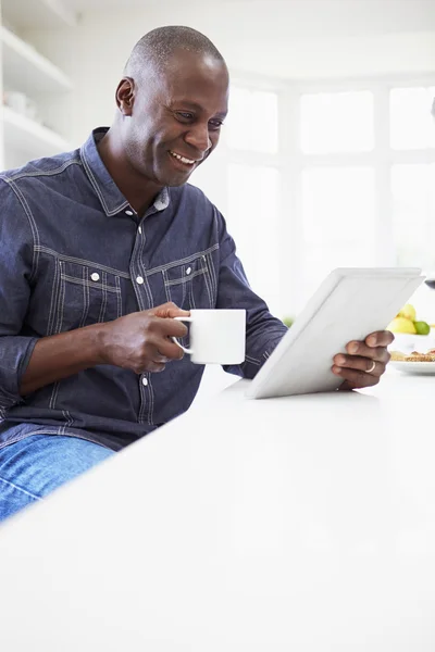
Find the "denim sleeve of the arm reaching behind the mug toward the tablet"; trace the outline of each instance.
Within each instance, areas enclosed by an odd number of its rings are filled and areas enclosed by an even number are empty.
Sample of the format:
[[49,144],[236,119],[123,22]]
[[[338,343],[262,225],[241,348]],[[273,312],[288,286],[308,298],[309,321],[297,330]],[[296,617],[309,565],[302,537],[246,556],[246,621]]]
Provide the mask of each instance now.
[[265,302],[249,286],[236,246],[226,230],[224,217],[217,213],[220,227],[220,269],[216,308],[244,308],[246,322],[246,356],[240,365],[224,366],[226,372],[253,378],[288,328],[269,312]]

